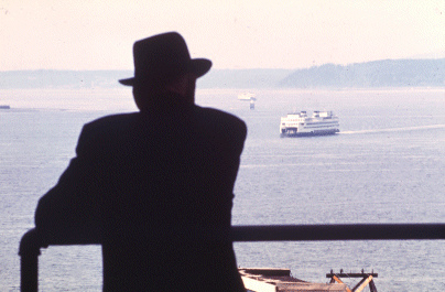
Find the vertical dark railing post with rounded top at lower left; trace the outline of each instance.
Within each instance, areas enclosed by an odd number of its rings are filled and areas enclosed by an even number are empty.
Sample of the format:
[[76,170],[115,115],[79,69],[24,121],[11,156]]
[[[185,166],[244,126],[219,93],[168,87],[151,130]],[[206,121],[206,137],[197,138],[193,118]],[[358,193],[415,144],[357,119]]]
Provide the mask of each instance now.
[[29,230],[20,241],[20,290],[22,292],[39,291],[39,256],[40,240],[35,229]]

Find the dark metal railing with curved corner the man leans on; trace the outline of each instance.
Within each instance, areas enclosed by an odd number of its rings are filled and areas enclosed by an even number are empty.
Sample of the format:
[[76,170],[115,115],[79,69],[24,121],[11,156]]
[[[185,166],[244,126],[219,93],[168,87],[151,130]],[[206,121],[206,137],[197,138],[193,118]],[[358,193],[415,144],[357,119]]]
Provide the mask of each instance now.
[[[445,239],[445,224],[345,224],[232,226],[234,241],[321,240],[435,240]],[[63,238],[47,241],[35,229],[20,241],[21,291],[39,290],[39,256],[48,246],[100,245],[98,238]]]

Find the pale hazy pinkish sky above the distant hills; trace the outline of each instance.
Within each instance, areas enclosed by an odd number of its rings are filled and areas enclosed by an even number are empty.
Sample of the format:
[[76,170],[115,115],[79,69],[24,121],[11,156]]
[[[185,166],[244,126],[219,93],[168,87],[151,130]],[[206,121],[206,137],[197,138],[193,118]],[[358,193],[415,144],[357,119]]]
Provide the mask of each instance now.
[[214,68],[405,58],[445,52],[445,1],[0,0],[0,71],[132,69],[166,31]]

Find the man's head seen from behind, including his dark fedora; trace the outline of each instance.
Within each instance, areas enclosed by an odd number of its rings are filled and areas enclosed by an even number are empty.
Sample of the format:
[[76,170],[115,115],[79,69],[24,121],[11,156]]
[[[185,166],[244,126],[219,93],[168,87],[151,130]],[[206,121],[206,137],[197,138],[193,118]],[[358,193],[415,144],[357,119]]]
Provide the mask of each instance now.
[[209,60],[191,58],[184,39],[176,32],[137,41],[133,45],[133,57],[134,77],[119,82],[133,86],[139,108],[139,104],[143,102],[140,99],[164,91],[174,91],[189,100],[191,91],[194,96],[196,78],[211,67]]

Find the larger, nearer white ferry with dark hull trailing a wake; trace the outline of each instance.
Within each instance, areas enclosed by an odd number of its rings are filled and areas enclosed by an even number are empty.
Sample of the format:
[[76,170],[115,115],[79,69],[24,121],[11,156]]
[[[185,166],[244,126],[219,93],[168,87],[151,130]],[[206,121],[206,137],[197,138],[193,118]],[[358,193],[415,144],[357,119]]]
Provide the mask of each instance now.
[[339,132],[338,117],[332,110],[314,110],[312,117],[306,111],[289,113],[281,118],[281,137],[321,136]]

